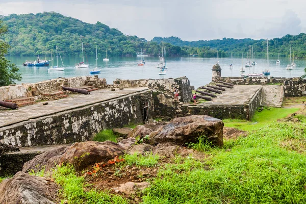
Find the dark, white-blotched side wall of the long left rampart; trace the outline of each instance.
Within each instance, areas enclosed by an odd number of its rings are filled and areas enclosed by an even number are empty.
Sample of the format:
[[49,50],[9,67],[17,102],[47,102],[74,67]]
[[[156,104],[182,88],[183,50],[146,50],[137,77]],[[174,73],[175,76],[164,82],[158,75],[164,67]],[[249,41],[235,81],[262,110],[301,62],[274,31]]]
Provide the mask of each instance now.
[[87,141],[103,129],[151,118],[154,108],[144,113],[144,105],[153,107],[150,90],[2,127],[0,141],[22,147]]

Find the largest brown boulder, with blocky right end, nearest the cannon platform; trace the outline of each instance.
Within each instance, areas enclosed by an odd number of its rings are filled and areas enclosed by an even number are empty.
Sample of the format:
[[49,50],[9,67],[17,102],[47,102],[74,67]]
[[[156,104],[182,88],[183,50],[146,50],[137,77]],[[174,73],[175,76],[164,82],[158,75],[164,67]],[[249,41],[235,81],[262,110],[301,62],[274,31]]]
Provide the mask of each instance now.
[[205,136],[213,145],[223,145],[222,120],[207,115],[190,115],[174,118],[149,135],[150,144],[197,142],[200,135]]

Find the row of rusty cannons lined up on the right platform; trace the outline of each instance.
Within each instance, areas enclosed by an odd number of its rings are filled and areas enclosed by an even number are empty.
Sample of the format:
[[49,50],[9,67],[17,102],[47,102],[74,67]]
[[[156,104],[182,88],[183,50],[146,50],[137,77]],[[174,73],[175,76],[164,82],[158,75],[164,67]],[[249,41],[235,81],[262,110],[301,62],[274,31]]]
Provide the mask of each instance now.
[[[218,81],[218,83],[221,83],[221,84],[216,84],[216,86],[210,86],[210,85],[207,85],[207,86],[202,86],[201,89],[206,89],[210,92],[215,92],[215,93],[218,93],[218,94],[221,94],[222,91],[225,91],[226,89],[225,88],[230,88],[230,89],[233,89],[234,88],[234,84],[231,84],[231,83],[227,83],[227,82],[221,82],[221,81]],[[196,95],[197,98],[201,98],[201,99],[205,99],[205,100],[213,100],[213,98],[217,97],[216,94],[213,94],[213,93],[209,93],[209,92],[206,92],[206,91],[200,91],[200,90],[195,90],[197,93],[200,93],[201,95]]]

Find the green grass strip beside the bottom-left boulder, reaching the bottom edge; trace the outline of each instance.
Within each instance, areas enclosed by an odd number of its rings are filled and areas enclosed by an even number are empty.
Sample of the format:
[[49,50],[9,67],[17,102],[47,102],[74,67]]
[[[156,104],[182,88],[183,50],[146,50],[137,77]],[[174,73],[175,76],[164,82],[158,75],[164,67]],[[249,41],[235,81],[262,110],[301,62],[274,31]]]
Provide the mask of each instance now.
[[52,176],[55,182],[62,187],[59,192],[63,197],[62,203],[128,203],[126,199],[111,195],[109,192],[96,189],[84,191],[85,187],[90,188],[90,186],[85,184],[83,176],[75,174],[73,165],[57,166]]

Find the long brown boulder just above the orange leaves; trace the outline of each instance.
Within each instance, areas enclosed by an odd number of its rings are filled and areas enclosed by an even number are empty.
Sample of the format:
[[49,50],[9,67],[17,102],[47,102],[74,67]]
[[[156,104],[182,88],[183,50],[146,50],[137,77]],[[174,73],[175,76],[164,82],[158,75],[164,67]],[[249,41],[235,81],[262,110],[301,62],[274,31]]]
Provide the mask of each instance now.
[[112,141],[76,142],[71,146],[59,147],[36,156],[23,165],[22,171],[28,172],[31,169],[39,171],[42,167],[49,170],[56,165],[67,163],[73,164],[78,170],[81,170],[89,165],[123,155],[123,151],[122,146]]

